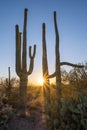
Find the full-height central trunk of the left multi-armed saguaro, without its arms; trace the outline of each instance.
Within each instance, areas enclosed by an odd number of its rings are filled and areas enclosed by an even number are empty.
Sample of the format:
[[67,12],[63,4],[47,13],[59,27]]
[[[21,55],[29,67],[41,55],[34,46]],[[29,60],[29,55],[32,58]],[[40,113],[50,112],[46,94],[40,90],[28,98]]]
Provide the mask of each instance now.
[[27,43],[26,43],[26,33],[27,33],[27,9],[24,12],[24,28],[23,28],[23,50],[22,50],[22,71],[23,74],[20,77],[20,108],[25,111],[26,109],[26,95],[27,95],[27,82],[28,82],[28,75],[26,74],[27,71],[27,64],[26,64],[26,53],[27,53]]

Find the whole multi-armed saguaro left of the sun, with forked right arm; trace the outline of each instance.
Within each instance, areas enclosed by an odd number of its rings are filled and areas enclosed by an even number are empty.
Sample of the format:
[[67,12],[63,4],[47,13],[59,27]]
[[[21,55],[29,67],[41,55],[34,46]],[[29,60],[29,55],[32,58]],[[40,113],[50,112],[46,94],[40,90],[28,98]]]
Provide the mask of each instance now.
[[[24,11],[24,26],[23,26],[23,48],[21,49],[21,32],[19,32],[19,26],[16,25],[16,73],[20,78],[20,108],[22,112],[25,112],[26,108],[26,94],[27,94],[27,82],[28,75],[33,71],[34,58],[36,53],[36,45],[34,45],[33,54],[31,54],[31,46],[29,47],[30,67],[27,71],[27,11]],[[21,56],[22,52],[22,56]]]

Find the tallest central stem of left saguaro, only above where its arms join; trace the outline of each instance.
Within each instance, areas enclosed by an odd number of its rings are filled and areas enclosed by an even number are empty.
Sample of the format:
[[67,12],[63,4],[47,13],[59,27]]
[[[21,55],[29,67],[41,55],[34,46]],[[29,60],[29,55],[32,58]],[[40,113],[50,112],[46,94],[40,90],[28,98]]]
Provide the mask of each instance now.
[[27,11],[28,9],[25,9],[24,11],[24,27],[23,27],[23,52],[22,52],[22,70],[23,72],[26,72],[27,64],[26,64],[26,28],[27,28]]

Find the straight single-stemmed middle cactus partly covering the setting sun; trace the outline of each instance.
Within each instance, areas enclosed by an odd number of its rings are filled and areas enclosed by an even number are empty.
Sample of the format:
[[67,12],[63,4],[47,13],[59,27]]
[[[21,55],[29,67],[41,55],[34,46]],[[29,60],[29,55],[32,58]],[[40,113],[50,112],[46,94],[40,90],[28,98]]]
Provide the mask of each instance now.
[[[43,78],[44,78],[44,93],[48,91],[48,94],[50,94],[50,82],[47,76],[49,75],[48,70],[48,62],[47,62],[47,49],[46,49],[46,31],[45,31],[45,23],[42,25],[42,70],[43,70]],[[49,95],[46,96],[49,96]],[[48,97],[49,98],[49,97]],[[50,100],[50,99],[49,99]],[[50,101],[49,101],[50,102]]]

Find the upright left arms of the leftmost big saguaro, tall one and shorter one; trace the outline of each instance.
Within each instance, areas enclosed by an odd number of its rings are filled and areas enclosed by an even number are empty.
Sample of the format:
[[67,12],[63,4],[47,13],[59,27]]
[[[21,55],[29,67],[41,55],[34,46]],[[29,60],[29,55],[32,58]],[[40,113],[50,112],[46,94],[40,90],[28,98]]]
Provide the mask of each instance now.
[[21,75],[21,33],[19,33],[19,26],[16,25],[16,73]]

